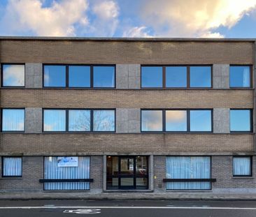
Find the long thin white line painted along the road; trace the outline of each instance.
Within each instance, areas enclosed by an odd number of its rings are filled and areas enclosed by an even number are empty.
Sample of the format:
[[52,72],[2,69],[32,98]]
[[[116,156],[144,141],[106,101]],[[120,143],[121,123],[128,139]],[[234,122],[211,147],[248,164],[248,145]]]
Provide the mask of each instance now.
[[0,209],[241,209],[256,210],[256,207],[0,207]]

